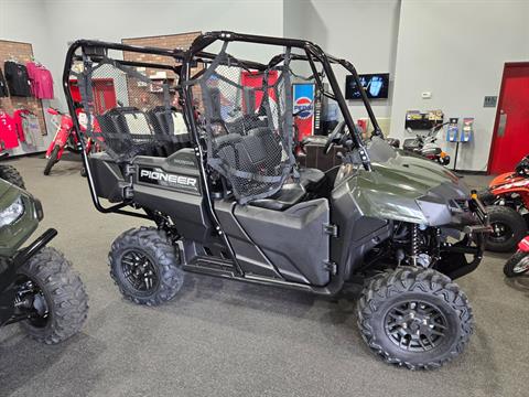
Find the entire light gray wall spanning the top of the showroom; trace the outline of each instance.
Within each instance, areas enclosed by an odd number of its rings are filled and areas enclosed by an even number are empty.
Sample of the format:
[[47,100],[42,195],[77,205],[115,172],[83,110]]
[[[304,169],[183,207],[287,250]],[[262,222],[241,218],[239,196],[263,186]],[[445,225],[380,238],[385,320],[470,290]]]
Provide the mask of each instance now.
[[[505,62],[529,61],[529,0],[0,0],[0,39],[33,43],[58,83],[66,43],[233,30],[307,39],[348,58],[359,73],[389,72],[390,99],[374,101],[402,137],[407,109],[475,117],[476,142],[458,168],[485,170]],[[257,46],[244,54],[263,56]],[[344,72],[338,74],[345,85]],[[62,87],[55,86],[64,108]],[[432,98],[421,99],[422,92]],[[359,103],[349,103],[363,117]]]

